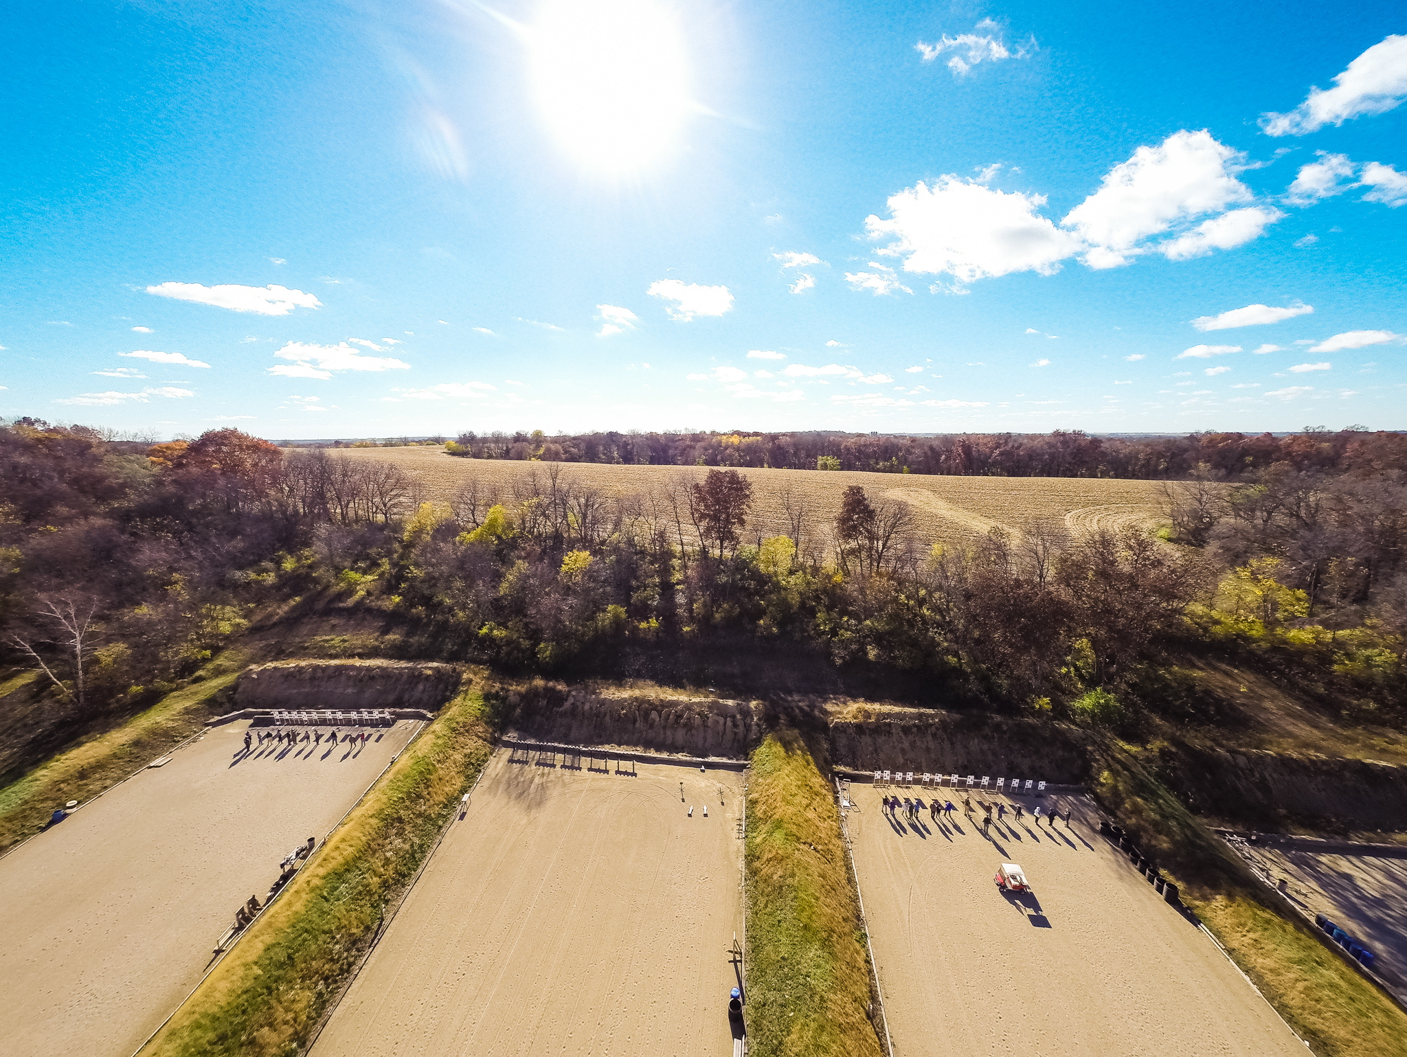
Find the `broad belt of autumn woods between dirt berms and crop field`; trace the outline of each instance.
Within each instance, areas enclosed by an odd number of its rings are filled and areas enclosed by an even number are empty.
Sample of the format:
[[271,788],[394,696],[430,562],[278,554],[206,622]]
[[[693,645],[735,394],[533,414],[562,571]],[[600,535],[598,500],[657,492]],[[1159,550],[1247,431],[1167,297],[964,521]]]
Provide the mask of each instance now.
[[[751,643],[906,673],[933,700],[1117,728],[1150,709],[1195,721],[1206,702],[1159,666],[1216,649],[1337,708],[1399,718],[1399,438],[1209,438],[1050,439],[1164,450],[1161,471],[1199,456],[1165,486],[1157,535],[1031,524],[929,548],[915,511],[858,486],[826,522],[789,497],[785,533],[758,538],[751,484],[726,467],[618,497],[542,462],[502,491],[471,477],[436,504],[390,463],[234,429],[148,445],[17,422],[0,429],[0,660],[79,709],[132,705],[260,614],[311,598],[404,619],[419,629],[407,649],[422,656],[516,670],[611,670],[628,653]],[[763,439],[803,450],[805,438]],[[981,446],[847,438],[826,450],[844,462],[858,450],[846,445],[871,441],[910,453]],[[1034,452],[1045,441],[1003,443]],[[560,442],[543,441],[542,455]],[[726,442],[708,441],[753,450]],[[1256,455],[1216,455],[1231,449]]]

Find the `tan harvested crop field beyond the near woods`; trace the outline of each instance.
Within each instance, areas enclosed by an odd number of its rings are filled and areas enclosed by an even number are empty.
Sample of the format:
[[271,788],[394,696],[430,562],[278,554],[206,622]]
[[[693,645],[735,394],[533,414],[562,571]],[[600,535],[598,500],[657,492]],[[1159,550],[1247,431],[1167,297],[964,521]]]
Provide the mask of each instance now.
[[[504,495],[536,474],[557,467],[574,487],[590,486],[608,495],[664,495],[677,480],[701,480],[701,466],[609,466],[598,463],[535,463],[501,459],[461,459],[438,448],[353,448],[338,455],[391,462],[419,474],[429,498],[450,500],[470,479]],[[1161,481],[1086,477],[938,477],[927,474],[861,473],[850,470],[751,470],[753,521],[749,535],[787,531],[785,495],[805,498],[815,531],[825,531],[840,512],[840,495],[858,484],[874,497],[903,500],[915,508],[919,533],[927,542],[974,539],[995,525],[1020,531],[1050,524],[1072,532],[1120,525],[1152,526],[1165,507]]]

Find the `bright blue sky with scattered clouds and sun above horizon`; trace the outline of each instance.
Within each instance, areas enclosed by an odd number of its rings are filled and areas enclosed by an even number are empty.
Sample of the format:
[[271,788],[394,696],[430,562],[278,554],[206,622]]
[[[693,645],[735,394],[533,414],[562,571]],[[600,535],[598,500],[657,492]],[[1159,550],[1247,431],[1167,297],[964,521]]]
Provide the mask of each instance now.
[[1400,4],[30,4],[0,415],[1407,428]]

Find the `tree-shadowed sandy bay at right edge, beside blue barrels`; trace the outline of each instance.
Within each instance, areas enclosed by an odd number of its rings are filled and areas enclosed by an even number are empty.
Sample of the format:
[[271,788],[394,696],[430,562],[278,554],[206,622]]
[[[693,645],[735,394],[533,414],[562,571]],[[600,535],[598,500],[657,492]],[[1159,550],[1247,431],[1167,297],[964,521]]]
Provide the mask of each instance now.
[[1407,859],[1263,847],[1252,856],[1271,877],[1289,880],[1287,895],[1311,916],[1328,915],[1373,951],[1373,971],[1407,1001]]

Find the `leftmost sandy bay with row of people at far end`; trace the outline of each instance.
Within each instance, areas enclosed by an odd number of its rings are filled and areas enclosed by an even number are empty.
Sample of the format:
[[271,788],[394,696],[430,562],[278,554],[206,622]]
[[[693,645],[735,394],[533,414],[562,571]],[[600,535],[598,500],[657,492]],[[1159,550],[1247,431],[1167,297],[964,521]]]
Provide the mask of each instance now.
[[322,839],[415,723],[360,752],[269,742],[248,757],[245,728],[211,729],[0,860],[0,1053],[128,1057],[239,904]]

